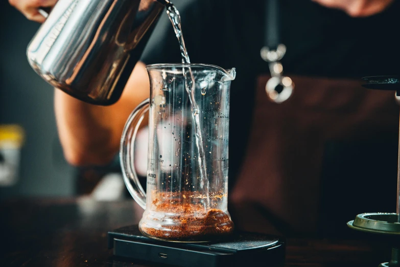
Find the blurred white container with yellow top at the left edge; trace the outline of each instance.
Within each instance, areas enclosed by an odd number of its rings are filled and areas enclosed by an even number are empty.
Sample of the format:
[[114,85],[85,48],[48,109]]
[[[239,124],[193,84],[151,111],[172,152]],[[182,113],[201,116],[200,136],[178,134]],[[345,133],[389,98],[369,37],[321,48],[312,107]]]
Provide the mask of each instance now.
[[24,136],[23,129],[18,125],[0,125],[0,186],[12,186],[18,181]]

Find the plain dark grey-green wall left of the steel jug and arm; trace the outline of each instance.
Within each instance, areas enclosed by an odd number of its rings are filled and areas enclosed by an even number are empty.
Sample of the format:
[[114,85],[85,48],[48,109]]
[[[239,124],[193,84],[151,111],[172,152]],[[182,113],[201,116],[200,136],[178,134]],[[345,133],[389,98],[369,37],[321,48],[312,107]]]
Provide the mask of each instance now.
[[26,132],[19,181],[0,187],[0,198],[74,194],[74,169],[64,160],[53,112],[53,88],[26,59],[26,48],[39,24],[1,1],[0,125],[19,124]]

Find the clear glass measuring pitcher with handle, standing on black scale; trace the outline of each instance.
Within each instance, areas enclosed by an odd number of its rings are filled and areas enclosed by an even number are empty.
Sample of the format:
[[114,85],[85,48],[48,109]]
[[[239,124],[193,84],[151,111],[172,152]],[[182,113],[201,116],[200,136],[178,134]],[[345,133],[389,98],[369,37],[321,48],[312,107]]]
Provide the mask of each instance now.
[[[147,71],[150,100],[132,112],[120,150],[125,184],[145,209],[140,231],[171,241],[209,240],[231,233],[228,129],[235,70],[205,64],[155,64],[148,65]],[[136,175],[133,150],[147,110],[146,194]]]

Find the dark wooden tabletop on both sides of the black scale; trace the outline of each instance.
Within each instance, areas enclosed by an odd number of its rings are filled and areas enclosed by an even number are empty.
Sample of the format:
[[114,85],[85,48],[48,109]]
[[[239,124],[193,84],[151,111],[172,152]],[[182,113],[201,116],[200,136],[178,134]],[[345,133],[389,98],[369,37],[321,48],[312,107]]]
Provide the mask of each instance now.
[[[0,203],[0,266],[154,266],[116,258],[107,232],[137,224],[143,210],[133,201],[26,199]],[[385,242],[288,238],[285,266],[377,267],[388,261]]]

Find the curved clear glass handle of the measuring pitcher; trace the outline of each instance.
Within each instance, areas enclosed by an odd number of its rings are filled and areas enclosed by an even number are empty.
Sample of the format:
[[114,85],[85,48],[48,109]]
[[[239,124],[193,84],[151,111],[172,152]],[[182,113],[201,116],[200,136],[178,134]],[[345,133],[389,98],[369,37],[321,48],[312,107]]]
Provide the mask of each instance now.
[[148,98],[133,110],[125,124],[120,146],[121,169],[125,185],[133,199],[135,199],[137,204],[143,209],[146,209],[146,192],[143,190],[137,177],[134,162],[134,148],[137,130],[145,117],[145,113],[148,112],[149,107],[150,99]]

